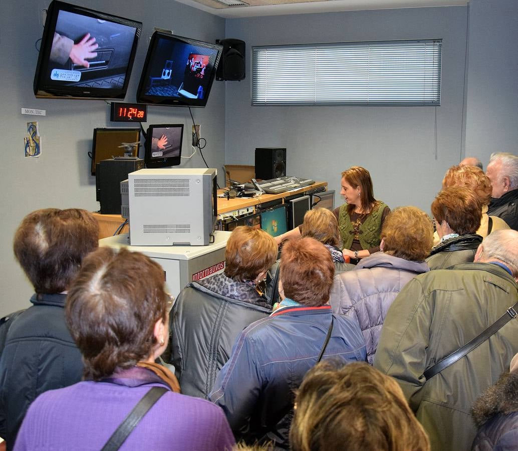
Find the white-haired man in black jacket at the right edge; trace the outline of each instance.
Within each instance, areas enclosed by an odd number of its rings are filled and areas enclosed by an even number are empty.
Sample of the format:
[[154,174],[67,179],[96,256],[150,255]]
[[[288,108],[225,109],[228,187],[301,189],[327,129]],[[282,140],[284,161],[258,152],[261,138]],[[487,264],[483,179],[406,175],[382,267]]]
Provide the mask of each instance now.
[[487,214],[502,218],[511,229],[518,230],[518,157],[507,152],[493,153],[486,175],[493,188]]

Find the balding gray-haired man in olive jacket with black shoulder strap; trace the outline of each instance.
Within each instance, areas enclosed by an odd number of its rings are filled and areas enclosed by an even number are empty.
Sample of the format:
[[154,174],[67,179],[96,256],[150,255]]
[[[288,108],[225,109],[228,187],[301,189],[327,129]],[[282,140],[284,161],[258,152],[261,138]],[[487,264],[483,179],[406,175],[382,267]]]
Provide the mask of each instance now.
[[[496,230],[473,263],[415,276],[387,312],[374,367],[397,380],[433,451],[471,447],[471,406],[518,351],[517,280],[518,232]],[[498,320],[507,322],[435,372]]]

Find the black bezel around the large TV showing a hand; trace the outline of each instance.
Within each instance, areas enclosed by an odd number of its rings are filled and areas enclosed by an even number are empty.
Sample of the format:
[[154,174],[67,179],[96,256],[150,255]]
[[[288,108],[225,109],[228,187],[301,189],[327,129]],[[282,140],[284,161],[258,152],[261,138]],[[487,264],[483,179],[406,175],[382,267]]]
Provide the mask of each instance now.
[[[82,16],[93,17],[99,20],[119,23],[134,27],[136,29],[133,39],[130,58],[126,66],[124,84],[121,88],[84,88],[74,86],[56,86],[49,84],[47,81],[48,67],[50,64],[50,53],[52,50],[52,41],[56,29],[57,18],[60,11],[75,13]],[[53,0],[47,11],[47,19],[45,21],[45,29],[41,38],[41,46],[38,54],[38,62],[36,64],[36,72],[34,74],[34,95],[37,98],[70,98],[81,100],[124,100],[130,82],[130,76],[137,52],[138,40],[142,31],[142,22],[126,19],[120,16],[109,14],[94,9],[84,8],[82,6]]]

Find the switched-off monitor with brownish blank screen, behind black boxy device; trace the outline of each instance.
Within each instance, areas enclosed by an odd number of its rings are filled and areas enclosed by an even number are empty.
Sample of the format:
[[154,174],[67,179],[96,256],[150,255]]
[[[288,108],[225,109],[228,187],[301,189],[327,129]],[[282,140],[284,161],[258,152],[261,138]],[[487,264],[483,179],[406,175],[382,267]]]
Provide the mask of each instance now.
[[95,165],[99,161],[122,157],[127,148],[131,148],[132,157],[138,157],[140,146],[136,144],[138,142],[140,142],[140,129],[94,129],[90,168],[92,175],[95,175]]

